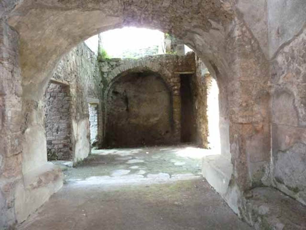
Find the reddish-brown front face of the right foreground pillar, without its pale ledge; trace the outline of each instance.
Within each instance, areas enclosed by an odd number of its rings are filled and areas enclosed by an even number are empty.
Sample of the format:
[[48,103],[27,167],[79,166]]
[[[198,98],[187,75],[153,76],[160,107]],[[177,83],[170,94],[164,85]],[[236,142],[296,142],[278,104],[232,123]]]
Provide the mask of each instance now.
[[265,183],[269,169],[269,65],[258,41],[237,20],[227,44],[230,152],[235,183],[243,192]]

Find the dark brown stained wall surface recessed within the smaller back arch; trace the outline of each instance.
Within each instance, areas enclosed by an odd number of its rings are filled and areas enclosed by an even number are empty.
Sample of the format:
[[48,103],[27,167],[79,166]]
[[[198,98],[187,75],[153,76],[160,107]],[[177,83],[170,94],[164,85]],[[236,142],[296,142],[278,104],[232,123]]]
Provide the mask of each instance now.
[[107,147],[172,143],[170,90],[158,74],[121,76],[110,88],[106,106]]

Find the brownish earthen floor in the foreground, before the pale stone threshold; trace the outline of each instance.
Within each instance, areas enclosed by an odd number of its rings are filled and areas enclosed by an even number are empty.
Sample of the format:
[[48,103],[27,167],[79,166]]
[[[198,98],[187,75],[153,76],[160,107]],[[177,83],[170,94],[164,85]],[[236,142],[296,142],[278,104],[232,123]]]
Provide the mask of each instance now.
[[203,178],[106,187],[68,184],[18,230],[250,230]]

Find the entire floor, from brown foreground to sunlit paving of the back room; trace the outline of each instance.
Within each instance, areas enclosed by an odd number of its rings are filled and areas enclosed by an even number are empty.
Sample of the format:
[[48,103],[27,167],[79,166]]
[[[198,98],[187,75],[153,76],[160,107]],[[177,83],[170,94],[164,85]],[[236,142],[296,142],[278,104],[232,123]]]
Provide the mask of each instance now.
[[95,150],[20,230],[251,229],[200,175],[192,146]]

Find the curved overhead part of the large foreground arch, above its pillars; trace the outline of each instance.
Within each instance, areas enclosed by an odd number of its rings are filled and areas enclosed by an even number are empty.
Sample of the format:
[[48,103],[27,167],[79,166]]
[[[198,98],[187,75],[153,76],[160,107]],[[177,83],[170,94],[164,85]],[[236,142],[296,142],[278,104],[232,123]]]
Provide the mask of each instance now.
[[231,0],[82,1],[24,0],[8,15],[20,34],[23,93],[38,99],[59,59],[79,42],[109,29],[138,26],[182,38],[225,74],[225,33]]

